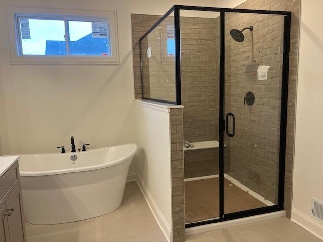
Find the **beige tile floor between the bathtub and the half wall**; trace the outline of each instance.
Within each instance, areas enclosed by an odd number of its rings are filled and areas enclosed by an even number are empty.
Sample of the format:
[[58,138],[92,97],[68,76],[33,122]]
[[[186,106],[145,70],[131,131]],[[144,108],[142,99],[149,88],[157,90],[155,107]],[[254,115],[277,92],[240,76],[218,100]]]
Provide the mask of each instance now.
[[58,225],[26,224],[27,242],[166,242],[136,182],[122,205],[93,219]]

